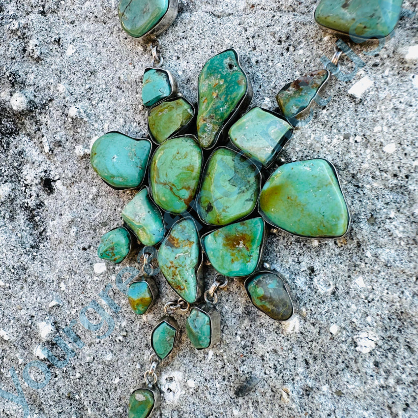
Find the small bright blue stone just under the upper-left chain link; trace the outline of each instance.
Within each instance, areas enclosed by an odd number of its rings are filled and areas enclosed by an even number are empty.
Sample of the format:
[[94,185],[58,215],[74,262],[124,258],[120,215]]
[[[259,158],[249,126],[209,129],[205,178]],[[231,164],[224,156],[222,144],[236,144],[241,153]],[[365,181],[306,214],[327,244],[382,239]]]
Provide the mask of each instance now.
[[147,68],[142,82],[142,102],[150,107],[165,99],[173,89],[166,70],[160,68]]

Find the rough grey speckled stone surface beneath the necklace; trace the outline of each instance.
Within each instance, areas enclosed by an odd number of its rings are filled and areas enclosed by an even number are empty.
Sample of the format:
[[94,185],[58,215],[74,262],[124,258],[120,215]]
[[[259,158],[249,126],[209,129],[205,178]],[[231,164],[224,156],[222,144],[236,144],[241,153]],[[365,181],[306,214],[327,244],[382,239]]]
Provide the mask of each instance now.
[[[253,104],[267,97],[274,107],[285,83],[332,56],[335,38],[313,22],[314,6],[180,1],[161,36],[165,66],[196,101],[200,68],[234,46]],[[296,316],[272,322],[252,307],[240,280],[232,282],[219,295],[221,343],[197,352],[183,332],[162,366],[157,417],[418,417],[418,3],[404,7],[379,53],[354,46],[364,68],[350,81],[332,80],[328,106],[316,108],[284,153],[335,164],[351,231],[341,240],[270,236],[264,261],[289,278]],[[107,309],[115,329],[97,339],[78,323],[86,345],[72,345],[76,356],[64,368],[42,359],[40,348],[59,356],[54,336],[100,300],[121,269],[103,269],[96,247],[133,193],[102,183],[89,149],[110,129],[146,135],[141,78],[150,53],[120,29],[116,0],[5,0],[0,16],[0,388],[16,393],[14,367],[31,417],[126,417],[130,389],[148,366],[150,331],[174,296],[161,276],[162,298],[144,317],[114,286],[109,294],[121,310]],[[350,60],[342,63],[353,70]],[[135,259],[126,265],[138,267]],[[39,390],[22,377],[34,359],[52,374]],[[30,375],[43,379],[36,369]],[[23,417],[23,410],[0,396],[0,416]]]

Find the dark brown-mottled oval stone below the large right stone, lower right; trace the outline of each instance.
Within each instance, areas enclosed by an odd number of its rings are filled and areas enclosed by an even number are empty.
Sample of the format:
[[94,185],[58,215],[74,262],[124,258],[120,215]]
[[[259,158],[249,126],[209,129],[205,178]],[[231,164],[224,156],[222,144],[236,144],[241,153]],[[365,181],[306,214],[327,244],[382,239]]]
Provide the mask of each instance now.
[[276,321],[293,315],[293,305],[284,281],[277,274],[262,272],[245,281],[245,289],[253,305]]

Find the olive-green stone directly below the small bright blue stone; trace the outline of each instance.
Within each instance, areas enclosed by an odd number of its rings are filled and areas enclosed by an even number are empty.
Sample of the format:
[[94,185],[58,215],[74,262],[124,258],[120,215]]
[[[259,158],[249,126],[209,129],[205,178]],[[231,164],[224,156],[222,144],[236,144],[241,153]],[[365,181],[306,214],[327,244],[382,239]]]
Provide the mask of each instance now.
[[182,97],[159,103],[148,111],[149,133],[161,144],[183,129],[193,115],[193,106]]

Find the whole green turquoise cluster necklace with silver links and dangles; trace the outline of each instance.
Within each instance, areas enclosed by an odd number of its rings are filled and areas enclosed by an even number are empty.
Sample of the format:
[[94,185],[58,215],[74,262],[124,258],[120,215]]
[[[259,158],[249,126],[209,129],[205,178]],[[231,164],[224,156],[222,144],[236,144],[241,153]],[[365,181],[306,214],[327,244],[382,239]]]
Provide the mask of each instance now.
[[[394,30],[402,1],[320,0],[316,22],[357,43],[379,42]],[[214,305],[228,279],[243,278],[252,304],[276,321],[294,307],[280,273],[261,266],[272,229],[304,238],[340,238],[350,214],[334,166],[322,158],[283,162],[278,155],[300,120],[309,114],[332,74],[344,43],[337,43],[324,69],[311,71],[277,94],[278,108],[248,110],[251,83],[238,53],[230,48],[210,58],[198,80],[198,105],[183,97],[173,75],[162,68],[156,37],[176,18],[177,0],[121,0],[119,20],[129,35],[148,42],[152,65],[145,69],[142,100],[149,138],[112,131],[91,149],[94,171],[116,190],[138,189],[122,210],[123,224],[100,240],[98,255],[121,263],[142,246],[143,274],[129,285],[129,304],[138,315],[158,296],[152,259],[178,295],[151,333],[154,354],[144,383],[129,399],[129,418],[150,417],[159,407],[156,368],[174,350],[178,312],[188,315],[186,333],[198,350],[220,339]],[[267,178],[266,168],[279,163]],[[205,291],[204,267],[217,271]]]

